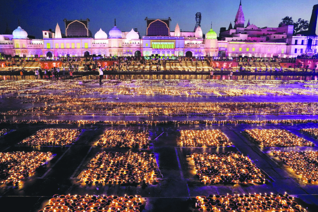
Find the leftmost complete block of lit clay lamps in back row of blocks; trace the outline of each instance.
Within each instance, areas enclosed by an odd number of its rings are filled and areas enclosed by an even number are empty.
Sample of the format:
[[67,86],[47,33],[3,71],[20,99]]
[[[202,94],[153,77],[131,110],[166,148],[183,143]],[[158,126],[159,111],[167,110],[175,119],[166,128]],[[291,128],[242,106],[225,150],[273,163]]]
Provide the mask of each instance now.
[[66,146],[72,144],[81,131],[79,129],[42,129],[18,144],[28,146]]

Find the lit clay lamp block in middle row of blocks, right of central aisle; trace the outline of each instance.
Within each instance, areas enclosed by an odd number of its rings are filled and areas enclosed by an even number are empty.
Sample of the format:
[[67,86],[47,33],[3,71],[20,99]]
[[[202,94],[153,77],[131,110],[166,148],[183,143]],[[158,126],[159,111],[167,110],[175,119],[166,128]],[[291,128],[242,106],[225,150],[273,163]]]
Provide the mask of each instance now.
[[204,184],[263,184],[267,180],[255,163],[244,154],[193,153],[190,159]]

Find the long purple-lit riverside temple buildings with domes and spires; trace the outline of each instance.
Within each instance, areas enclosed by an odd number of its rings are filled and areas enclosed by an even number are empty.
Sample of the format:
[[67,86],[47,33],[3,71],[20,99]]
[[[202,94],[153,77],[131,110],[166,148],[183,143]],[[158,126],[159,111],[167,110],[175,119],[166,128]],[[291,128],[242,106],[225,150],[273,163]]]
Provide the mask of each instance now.
[[[293,34],[294,26],[262,27],[246,23],[243,5],[240,2],[234,22],[222,27],[219,37],[212,29],[203,33],[201,13],[196,14],[194,31],[181,31],[180,26],[170,25],[171,18],[145,18],[146,34],[131,29],[123,32],[120,25],[105,32],[100,28],[95,34],[89,30],[89,19],[64,19],[65,34],[61,26],[55,31],[43,31],[43,39],[32,39],[23,26],[12,34],[0,35],[0,52],[20,57],[63,56],[218,56],[218,57],[296,57],[317,53],[318,38],[315,34],[318,5],[313,8],[308,31]],[[234,15],[233,15],[234,17]]]

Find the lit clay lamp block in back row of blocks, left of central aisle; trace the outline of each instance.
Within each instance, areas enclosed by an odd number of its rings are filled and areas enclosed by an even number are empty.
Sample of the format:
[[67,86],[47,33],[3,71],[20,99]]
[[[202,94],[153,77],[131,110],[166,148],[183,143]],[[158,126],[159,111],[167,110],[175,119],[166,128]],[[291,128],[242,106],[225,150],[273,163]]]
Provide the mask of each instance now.
[[106,130],[98,140],[99,147],[147,148],[149,131],[143,130]]

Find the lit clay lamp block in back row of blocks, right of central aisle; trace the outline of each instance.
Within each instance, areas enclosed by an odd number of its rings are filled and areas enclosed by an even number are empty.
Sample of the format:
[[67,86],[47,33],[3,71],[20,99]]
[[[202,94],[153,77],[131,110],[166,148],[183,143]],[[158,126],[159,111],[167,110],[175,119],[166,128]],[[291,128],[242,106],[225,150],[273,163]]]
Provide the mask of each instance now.
[[220,130],[180,130],[183,147],[225,147],[233,143]]

